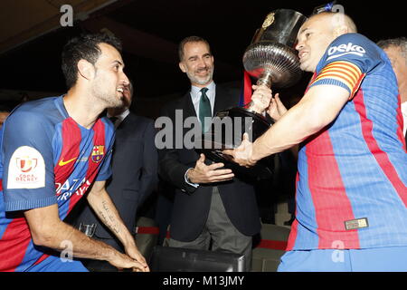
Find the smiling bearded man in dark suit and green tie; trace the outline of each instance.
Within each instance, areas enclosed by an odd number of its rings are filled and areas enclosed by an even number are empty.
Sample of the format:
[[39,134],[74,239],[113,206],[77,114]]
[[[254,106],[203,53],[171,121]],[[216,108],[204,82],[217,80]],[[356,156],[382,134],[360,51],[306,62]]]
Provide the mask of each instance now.
[[[239,92],[213,82],[213,55],[203,38],[185,38],[179,45],[179,57],[179,67],[188,76],[191,90],[180,101],[166,105],[162,116],[175,123],[175,114],[182,111],[183,123],[195,117],[204,127],[204,117],[238,106]],[[271,93],[265,87],[256,92]],[[188,130],[183,129],[183,139]],[[159,150],[160,176],[175,186],[169,246],[244,254],[249,270],[251,237],[260,231],[254,189],[235,177],[231,169],[222,167],[222,163],[213,163],[184,145],[182,149],[173,146]]]

